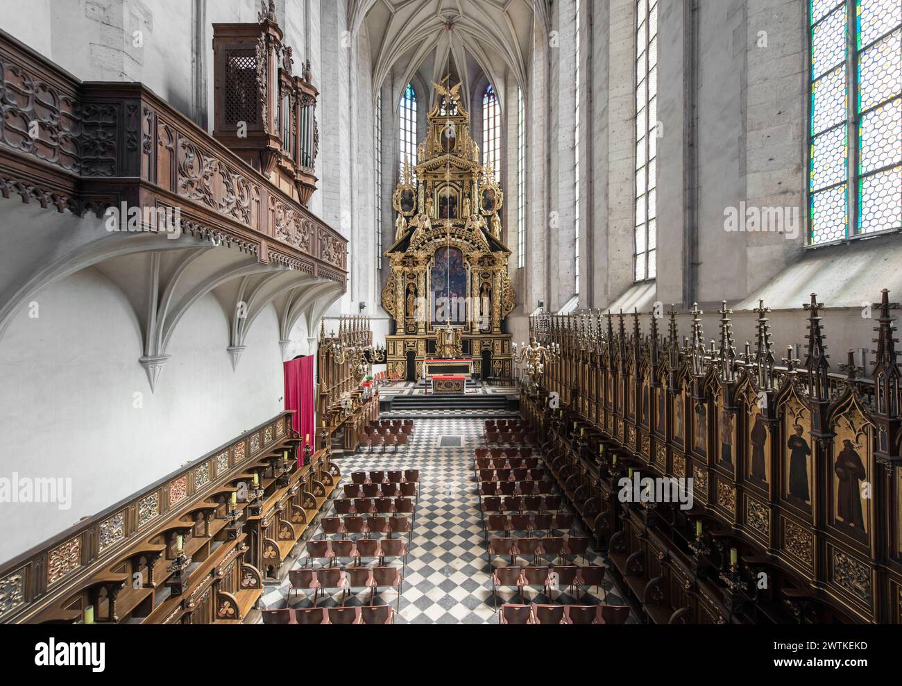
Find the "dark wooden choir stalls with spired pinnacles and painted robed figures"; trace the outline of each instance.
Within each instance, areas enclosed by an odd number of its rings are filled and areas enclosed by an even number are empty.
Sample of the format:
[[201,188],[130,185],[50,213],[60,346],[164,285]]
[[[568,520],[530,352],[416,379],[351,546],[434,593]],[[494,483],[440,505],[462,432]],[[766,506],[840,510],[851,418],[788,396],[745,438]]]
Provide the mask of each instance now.
[[874,306],[870,378],[851,351],[830,371],[823,308],[812,295],[805,359],[789,348],[779,366],[763,303],[741,354],[725,303],[710,348],[697,308],[685,343],[675,311],[664,336],[638,313],[531,320],[559,354],[524,413],[648,621],[902,621],[897,305],[884,291]]

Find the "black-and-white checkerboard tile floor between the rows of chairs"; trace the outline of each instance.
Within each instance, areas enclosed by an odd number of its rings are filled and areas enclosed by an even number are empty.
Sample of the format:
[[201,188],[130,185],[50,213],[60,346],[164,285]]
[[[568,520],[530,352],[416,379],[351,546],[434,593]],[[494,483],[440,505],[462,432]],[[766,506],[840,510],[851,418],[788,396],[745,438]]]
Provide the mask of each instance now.
[[[495,558],[490,563],[483,534],[476,480],[474,448],[484,445],[482,419],[429,419],[415,422],[408,453],[361,453],[338,461],[343,477],[336,492],[350,481],[352,471],[388,468],[419,469],[419,504],[412,525],[407,567],[400,598],[399,624],[494,624],[498,622],[492,598],[492,565],[509,561]],[[460,448],[439,447],[443,436],[459,436]],[[456,441],[453,441],[456,442]],[[314,536],[319,536],[317,529]],[[516,534],[515,534],[516,535]],[[520,533],[519,535],[525,535]],[[298,546],[295,567],[308,564],[303,543]],[[589,561],[602,563],[590,552]],[[314,561],[315,565],[323,561]],[[520,565],[525,560],[518,561]],[[585,560],[577,561],[585,564]],[[401,561],[396,564],[400,566]],[[554,593],[549,600],[539,589],[525,589],[527,602],[595,604],[603,599],[612,604],[623,601],[606,579],[602,589],[590,589],[583,598]],[[289,599],[288,579],[272,586],[262,598],[263,607],[311,607],[312,594],[299,593]],[[520,602],[517,589],[498,589],[498,604]],[[364,605],[369,591],[345,598],[345,605]],[[318,607],[340,605],[341,593],[320,598]],[[397,592],[381,590],[376,602],[397,606]],[[630,622],[634,621],[630,618]]]

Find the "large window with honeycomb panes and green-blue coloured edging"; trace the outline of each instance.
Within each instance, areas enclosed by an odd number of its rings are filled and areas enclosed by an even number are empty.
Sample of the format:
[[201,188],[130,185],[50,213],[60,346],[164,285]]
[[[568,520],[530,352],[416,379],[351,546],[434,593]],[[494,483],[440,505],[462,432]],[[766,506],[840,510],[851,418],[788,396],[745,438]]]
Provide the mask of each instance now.
[[902,227],[902,4],[810,10],[811,243]]

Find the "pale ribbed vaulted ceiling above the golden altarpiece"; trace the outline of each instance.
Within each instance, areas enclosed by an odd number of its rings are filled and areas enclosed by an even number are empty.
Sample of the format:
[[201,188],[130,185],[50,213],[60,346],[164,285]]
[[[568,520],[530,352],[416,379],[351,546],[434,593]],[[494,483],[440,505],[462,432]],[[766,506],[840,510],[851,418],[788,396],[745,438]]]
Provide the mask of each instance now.
[[548,0],[351,0],[350,9],[352,30],[365,24],[369,34],[375,88],[393,76],[400,96],[415,74],[430,83],[450,73],[466,101],[483,76],[500,96],[506,77],[526,88],[533,29],[548,22]]

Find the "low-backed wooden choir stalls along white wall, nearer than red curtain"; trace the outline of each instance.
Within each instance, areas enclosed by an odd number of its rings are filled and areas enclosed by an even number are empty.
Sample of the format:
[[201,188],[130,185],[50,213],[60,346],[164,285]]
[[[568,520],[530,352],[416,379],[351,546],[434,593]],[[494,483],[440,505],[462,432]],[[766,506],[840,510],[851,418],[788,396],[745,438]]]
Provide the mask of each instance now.
[[340,477],[329,450],[300,454],[290,418],[281,413],[7,563],[0,621],[242,622],[263,580],[288,573],[289,553]]

